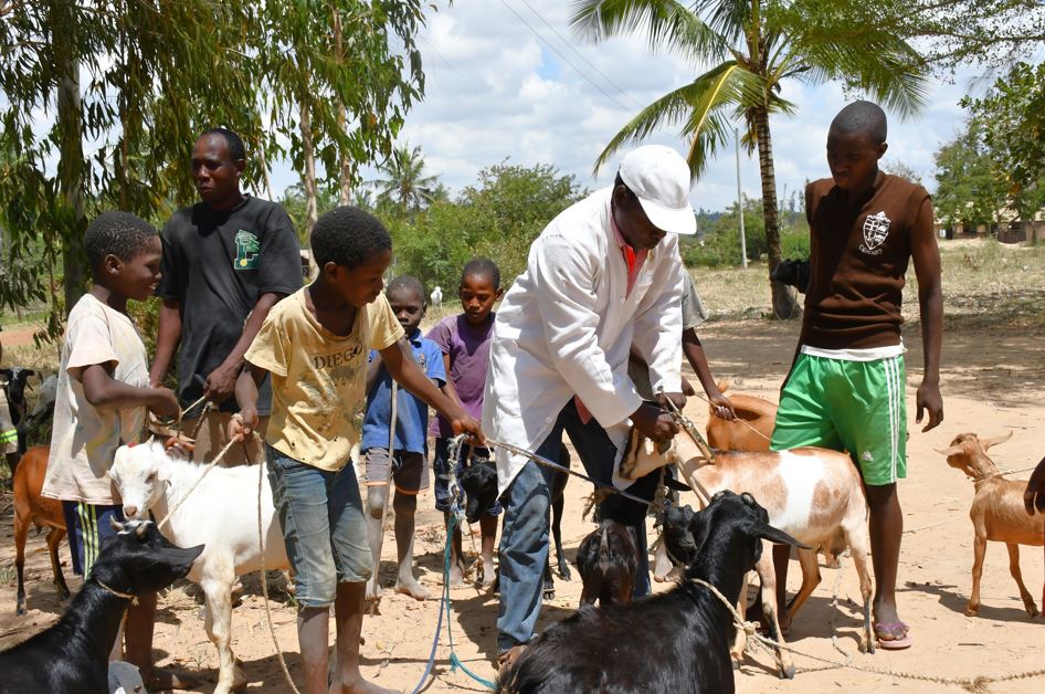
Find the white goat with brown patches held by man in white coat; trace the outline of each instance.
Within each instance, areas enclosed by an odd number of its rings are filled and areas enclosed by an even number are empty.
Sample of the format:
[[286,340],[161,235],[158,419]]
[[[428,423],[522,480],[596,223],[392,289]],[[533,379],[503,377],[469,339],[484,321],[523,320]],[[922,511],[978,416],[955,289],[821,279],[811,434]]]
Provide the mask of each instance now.
[[[636,434],[633,434],[636,435]],[[802,448],[780,452],[717,453],[710,464],[696,442],[685,433],[675,438],[665,451],[652,442],[638,440],[630,449],[630,458],[621,465],[621,476],[638,477],[668,463],[678,466],[687,484],[697,493],[703,507],[722,490],[748,493],[769,513],[769,523],[810,547],[819,547],[842,533],[853,555],[864,598],[864,630],[861,649],[874,652],[870,630],[870,575],[867,554],[867,501],[859,473],[848,455],[826,449]],[[788,621],[812,595],[821,581],[815,549],[800,549],[802,587],[788,604]],[[777,604],[777,575],[772,548],[763,547],[756,567],[762,582],[762,609],[778,641],[783,643]],[[741,601],[747,591],[741,591]],[[740,606],[743,613],[743,604]],[[745,634],[737,630],[733,658],[743,653]],[[777,651],[781,676],[794,676],[794,664],[787,651]]]

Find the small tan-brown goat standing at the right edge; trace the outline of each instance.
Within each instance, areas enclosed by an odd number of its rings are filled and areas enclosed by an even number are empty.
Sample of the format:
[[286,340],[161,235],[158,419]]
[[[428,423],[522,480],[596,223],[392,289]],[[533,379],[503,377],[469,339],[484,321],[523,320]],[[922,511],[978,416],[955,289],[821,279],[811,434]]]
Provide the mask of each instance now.
[[[1037,607],[1034,598],[1023,583],[1020,572],[1020,545],[1041,547],[1045,544],[1045,516],[1027,515],[1023,503],[1026,481],[1006,480],[998,472],[998,466],[986,451],[992,445],[1009,441],[1007,435],[995,439],[980,439],[974,433],[958,434],[951,445],[943,451],[947,464],[957,467],[973,480],[977,494],[969,508],[973,540],[972,595],[965,606],[965,614],[974,617],[980,611],[980,577],[983,575],[983,557],[986,555],[988,540],[1005,543],[1009,547],[1009,571],[1020,588],[1020,598],[1027,614],[1036,617]],[[1042,606],[1045,609],[1045,606]]]

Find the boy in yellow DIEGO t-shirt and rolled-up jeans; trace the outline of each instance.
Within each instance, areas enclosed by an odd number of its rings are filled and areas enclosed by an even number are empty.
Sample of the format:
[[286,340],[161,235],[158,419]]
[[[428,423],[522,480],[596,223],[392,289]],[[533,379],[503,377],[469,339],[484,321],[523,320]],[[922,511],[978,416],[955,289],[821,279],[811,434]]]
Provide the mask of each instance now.
[[265,456],[296,576],[305,691],[328,691],[334,604],[338,672],[329,692],[383,692],[359,672],[363,591],[373,566],[359,485],[348,464],[362,428],[369,350],[380,351],[392,377],[446,417],[455,432],[481,440],[483,434],[400,345],[403,328],[381,294],[392,261],[392,240],[381,222],[358,208],[337,208],[316,222],[312,249],[319,276],[265,318],[236,381],[240,419],[229,435],[257,424],[257,383],[271,374]]

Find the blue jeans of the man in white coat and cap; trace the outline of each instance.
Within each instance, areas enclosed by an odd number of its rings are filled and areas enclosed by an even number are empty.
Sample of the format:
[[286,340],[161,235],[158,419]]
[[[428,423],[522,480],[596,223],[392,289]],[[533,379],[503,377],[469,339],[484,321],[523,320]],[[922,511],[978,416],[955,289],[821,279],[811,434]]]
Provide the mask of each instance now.
[[[618,449],[605,430],[594,419],[581,423],[577,406],[571,399],[562,408],[548,438],[536,453],[558,460],[562,432],[570,437],[580,455],[584,471],[592,480],[610,484]],[[550,467],[530,461],[502,495],[505,506],[504,528],[500,536],[500,608],[497,612],[497,648],[500,652],[526,643],[534,635],[540,614],[545,562],[548,560],[548,511],[551,506],[549,482],[555,474]],[[630,494],[652,500],[658,473],[636,480],[627,488]],[[638,539],[638,575],[635,597],[650,592],[650,562],[646,553],[645,504],[611,494],[599,506],[600,516],[612,518],[635,528]]]

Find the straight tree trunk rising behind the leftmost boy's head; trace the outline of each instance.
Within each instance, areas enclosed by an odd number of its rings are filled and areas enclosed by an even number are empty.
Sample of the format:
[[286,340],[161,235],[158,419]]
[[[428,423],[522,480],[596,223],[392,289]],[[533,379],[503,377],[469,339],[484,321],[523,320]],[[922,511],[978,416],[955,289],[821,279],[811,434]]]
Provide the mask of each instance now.
[[86,292],[87,257],[84,251],[84,148],[83,103],[80,97],[80,61],[76,45],[76,10],[64,2],[51,6],[54,21],[55,60],[61,71],[57,97],[59,167],[57,179],[65,228],[62,230],[62,269],[64,272],[65,315]]

